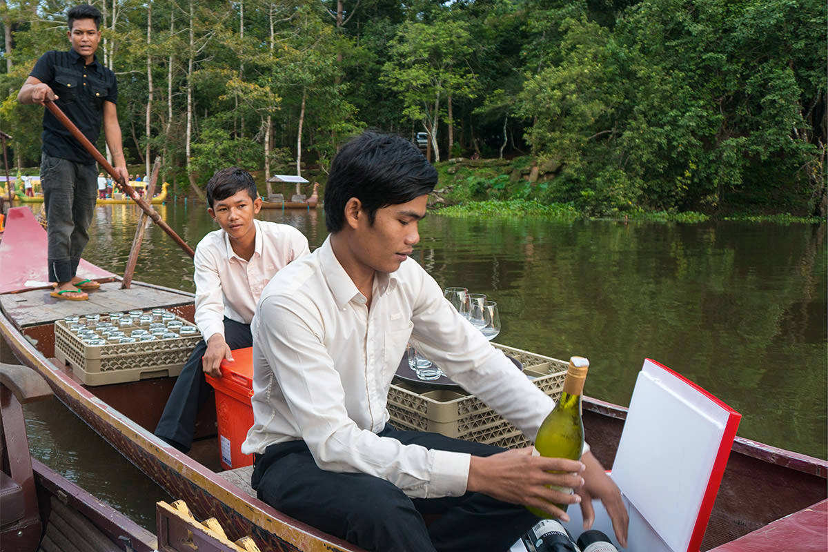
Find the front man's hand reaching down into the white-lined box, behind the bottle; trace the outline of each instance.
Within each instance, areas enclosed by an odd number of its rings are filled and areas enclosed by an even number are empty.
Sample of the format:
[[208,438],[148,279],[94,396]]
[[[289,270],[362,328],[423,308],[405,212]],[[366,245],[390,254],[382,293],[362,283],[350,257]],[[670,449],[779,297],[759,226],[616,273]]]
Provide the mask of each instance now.
[[586,466],[584,473],[584,485],[575,488],[575,493],[580,495],[580,511],[584,517],[584,529],[590,529],[595,522],[595,509],[592,507],[592,499],[597,498],[603,504],[609,519],[613,522],[615,538],[619,545],[627,547],[627,528],[629,515],[627,508],[623,506],[621,491],[618,485],[609,478],[604,467],[591,452],[584,454],[581,462]]

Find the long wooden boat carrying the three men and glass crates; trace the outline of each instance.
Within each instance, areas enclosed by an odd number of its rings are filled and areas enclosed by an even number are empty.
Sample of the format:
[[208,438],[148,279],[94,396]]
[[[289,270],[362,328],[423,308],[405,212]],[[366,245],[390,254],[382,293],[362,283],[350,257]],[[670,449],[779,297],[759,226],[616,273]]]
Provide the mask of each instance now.
[[[38,237],[35,226],[28,209],[11,209],[7,233],[0,242],[0,262],[7,267],[0,271],[0,345],[6,348],[0,353],[12,353],[34,367],[70,410],[173,497],[184,499],[196,516],[215,516],[232,538],[249,534],[262,550],[359,550],[259,501],[249,488],[249,468],[220,471],[214,405],[208,404],[200,412],[190,454],[181,454],[156,439],[152,430],[171,391],[172,378],[84,386],[58,361],[55,320],[68,314],[132,308],[164,308],[192,319],[193,296],[137,282],[131,289],[121,290],[118,276],[82,263],[79,275],[102,282],[101,290],[90,293],[88,301],[51,300],[46,289],[37,286],[42,276],[37,276],[36,270],[42,271],[38,266],[46,263],[45,252],[43,262],[34,258],[38,240],[45,240]],[[44,243],[39,247],[45,249]],[[26,255],[19,255],[20,251]],[[592,450],[610,468],[627,410],[595,399],[586,399],[584,410]],[[772,522],[785,523],[777,520],[825,501],[826,474],[828,463],[824,460],[737,438],[701,550],[736,550],[716,547],[726,547],[744,535],[751,538],[751,531],[763,531]],[[823,515],[821,525],[811,526],[816,539],[824,540],[825,521]],[[785,550],[788,544],[777,542],[777,549],[755,550]]]

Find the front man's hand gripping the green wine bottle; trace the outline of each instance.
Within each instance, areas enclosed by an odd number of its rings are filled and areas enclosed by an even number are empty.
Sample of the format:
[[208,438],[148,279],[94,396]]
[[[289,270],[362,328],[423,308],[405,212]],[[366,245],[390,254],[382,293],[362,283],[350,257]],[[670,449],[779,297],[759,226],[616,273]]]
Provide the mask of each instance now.
[[585,465],[577,460],[532,456],[532,447],[507,450],[492,456],[472,456],[466,489],[503,502],[532,506],[569,521],[566,512],[555,504],[575,504],[581,497],[550,486],[582,487],[584,470]]

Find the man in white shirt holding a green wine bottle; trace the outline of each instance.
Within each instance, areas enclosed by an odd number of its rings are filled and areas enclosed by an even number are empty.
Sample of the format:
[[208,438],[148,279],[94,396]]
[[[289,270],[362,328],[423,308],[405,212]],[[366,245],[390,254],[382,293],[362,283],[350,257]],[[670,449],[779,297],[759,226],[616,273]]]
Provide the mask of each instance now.
[[[366,132],[342,147],[325,185],[330,236],[279,271],[253,318],[258,497],[366,550],[508,550],[537,522],[598,497],[626,542],[618,487],[581,462],[401,431],[388,388],[409,339],[467,391],[534,437],[554,401],[444,299],[408,258],[437,173],[412,143]],[[558,471],[559,473],[551,473]],[[570,494],[549,485],[575,488]],[[426,526],[423,514],[439,514]]]

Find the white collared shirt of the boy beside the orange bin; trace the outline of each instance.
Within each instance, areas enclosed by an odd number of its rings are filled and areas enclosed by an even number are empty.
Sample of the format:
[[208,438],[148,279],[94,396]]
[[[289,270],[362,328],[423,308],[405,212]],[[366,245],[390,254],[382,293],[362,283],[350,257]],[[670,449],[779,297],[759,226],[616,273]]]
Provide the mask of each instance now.
[[253,219],[256,246],[245,261],[233,252],[224,230],[201,238],[195,247],[195,324],[206,340],[224,336],[224,317],[250,324],[267,282],[289,262],[310,253],[305,235],[288,224]]

